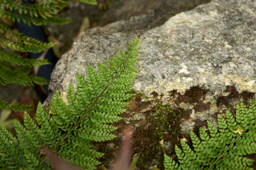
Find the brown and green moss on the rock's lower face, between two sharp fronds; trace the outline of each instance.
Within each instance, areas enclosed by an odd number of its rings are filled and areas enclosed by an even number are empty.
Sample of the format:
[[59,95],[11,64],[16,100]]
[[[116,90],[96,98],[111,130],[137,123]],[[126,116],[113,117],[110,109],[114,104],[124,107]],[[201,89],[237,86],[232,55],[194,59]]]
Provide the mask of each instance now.
[[[167,141],[171,143],[169,148],[165,148],[167,154],[174,153],[174,146],[177,144],[180,145],[179,138],[183,138],[185,134],[181,132],[180,123],[183,119],[187,120],[190,118],[190,114],[192,113],[192,109],[182,109],[179,107],[179,103],[197,103],[194,109],[197,110],[208,110],[208,103],[201,103],[208,90],[205,90],[199,86],[193,86],[189,90],[186,90],[185,93],[178,93],[177,90],[170,91],[169,96],[170,100],[176,103],[176,106],[170,104],[163,104],[162,100],[163,94],[158,94],[156,92],[152,92],[151,101],[142,102],[142,99],[146,98],[144,94],[137,93],[136,91],[132,91],[131,93],[134,95],[131,99],[129,99],[128,111],[126,114],[121,115],[124,118],[131,117],[130,114],[136,115],[138,113],[142,113],[145,116],[145,119],[142,120],[133,120],[130,121],[132,126],[135,126],[134,134],[133,134],[133,153],[140,153],[140,158],[137,162],[137,167],[140,170],[149,169],[150,166],[157,165],[158,168],[164,169],[163,160],[164,155],[159,141],[162,139],[164,143]],[[165,100],[165,102],[168,100]],[[155,104],[157,103],[157,104]],[[154,104],[154,107],[152,107]],[[147,111],[141,112],[143,109]],[[129,114],[130,113],[130,114]],[[123,132],[126,124],[125,122],[119,122],[118,130],[116,134],[120,134]],[[188,139],[189,140],[189,139]],[[114,139],[111,142],[115,144],[115,146],[119,146],[121,143],[121,138]],[[109,142],[108,142],[109,143]],[[104,146],[104,145],[102,145]],[[100,147],[104,149],[104,147]],[[100,150],[100,149],[99,149]],[[119,150],[116,148],[112,150],[103,150],[102,152],[106,153],[106,161],[109,157],[117,157],[119,154]]]

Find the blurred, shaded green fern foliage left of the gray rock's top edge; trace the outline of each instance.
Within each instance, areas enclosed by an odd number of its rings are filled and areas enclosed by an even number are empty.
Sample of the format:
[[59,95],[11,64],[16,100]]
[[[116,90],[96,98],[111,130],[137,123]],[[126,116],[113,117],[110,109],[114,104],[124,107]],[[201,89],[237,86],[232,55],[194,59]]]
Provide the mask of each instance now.
[[[0,0],[0,18],[8,18],[15,22],[23,21],[25,24],[31,26],[52,24],[66,24],[71,22],[69,19],[54,17],[59,12],[60,8],[64,8],[70,1],[63,0],[41,0],[34,4],[26,4],[22,1],[14,0]],[[80,0],[88,4],[97,4],[96,0]],[[0,21],[0,46],[3,48],[10,48],[13,51],[19,52],[42,52],[49,49],[54,44],[52,42],[45,43],[23,36],[21,33],[12,30],[9,26]],[[19,67],[13,70],[8,63],[15,63]],[[34,85],[34,83],[45,85],[48,80],[42,77],[29,76],[30,68],[32,66],[40,66],[44,64],[51,64],[45,59],[22,59],[13,52],[7,52],[0,49],[0,85],[7,85],[10,83],[19,83],[24,86]],[[4,100],[0,99],[0,108],[9,110],[24,111],[24,109],[31,110],[33,107],[24,105],[10,105]]]

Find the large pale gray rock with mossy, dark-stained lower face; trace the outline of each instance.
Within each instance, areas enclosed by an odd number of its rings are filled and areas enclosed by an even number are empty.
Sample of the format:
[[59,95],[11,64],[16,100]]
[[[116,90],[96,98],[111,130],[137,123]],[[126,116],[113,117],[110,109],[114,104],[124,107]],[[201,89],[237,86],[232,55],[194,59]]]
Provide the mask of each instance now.
[[206,127],[206,120],[216,124],[218,113],[255,99],[255,9],[255,1],[213,0],[151,30],[114,33],[115,26],[123,23],[119,21],[81,33],[58,61],[44,106],[49,106],[56,90],[65,98],[68,85],[73,82],[76,87],[75,75],[86,75],[88,63],[97,69],[97,62],[106,63],[106,57],[140,35],[135,97],[124,119],[115,124],[120,127],[118,138],[97,147],[106,153],[101,161],[111,164],[122,130],[129,125],[134,129],[133,151],[141,152],[138,167],[161,167],[161,139],[172,154],[178,138],[190,140],[186,135],[190,130]]

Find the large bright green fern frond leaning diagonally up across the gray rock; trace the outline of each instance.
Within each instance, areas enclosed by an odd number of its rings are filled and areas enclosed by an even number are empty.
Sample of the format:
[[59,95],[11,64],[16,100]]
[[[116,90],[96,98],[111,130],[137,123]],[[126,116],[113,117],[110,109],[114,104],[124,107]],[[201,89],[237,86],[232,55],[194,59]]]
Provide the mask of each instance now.
[[32,119],[24,114],[26,128],[16,121],[17,139],[0,126],[1,169],[52,169],[50,160],[42,152],[47,147],[58,157],[83,169],[96,169],[97,158],[104,153],[92,149],[90,141],[105,141],[116,137],[117,129],[109,125],[121,120],[118,115],[125,111],[125,100],[131,97],[131,81],[137,69],[140,39],[133,39],[127,51],[107,59],[107,65],[98,63],[99,73],[91,65],[87,67],[87,81],[76,75],[77,91],[71,83],[67,90],[66,105],[59,92],[54,94],[50,114],[37,106]]

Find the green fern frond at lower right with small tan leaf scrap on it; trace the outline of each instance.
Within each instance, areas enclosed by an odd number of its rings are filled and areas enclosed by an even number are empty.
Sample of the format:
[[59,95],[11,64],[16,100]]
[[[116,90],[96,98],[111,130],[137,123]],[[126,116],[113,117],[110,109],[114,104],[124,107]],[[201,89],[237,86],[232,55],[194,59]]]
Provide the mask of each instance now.
[[226,110],[226,118],[218,115],[218,127],[207,121],[209,134],[199,129],[200,138],[191,131],[193,150],[180,140],[182,149],[175,146],[178,162],[165,155],[165,170],[253,170],[254,160],[243,157],[256,153],[256,100],[249,108],[236,105],[236,117]]

